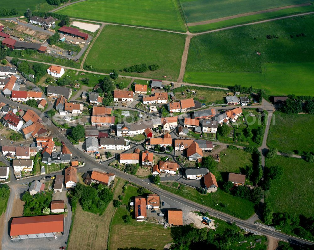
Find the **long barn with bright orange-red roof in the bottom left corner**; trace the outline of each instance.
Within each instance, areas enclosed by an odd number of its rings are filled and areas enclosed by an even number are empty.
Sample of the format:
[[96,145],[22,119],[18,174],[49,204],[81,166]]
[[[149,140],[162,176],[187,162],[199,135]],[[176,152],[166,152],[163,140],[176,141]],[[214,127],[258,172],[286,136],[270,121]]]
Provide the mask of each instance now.
[[64,215],[42,215],[13,218],[10,225],[11,239],[54,237],[64,232]]

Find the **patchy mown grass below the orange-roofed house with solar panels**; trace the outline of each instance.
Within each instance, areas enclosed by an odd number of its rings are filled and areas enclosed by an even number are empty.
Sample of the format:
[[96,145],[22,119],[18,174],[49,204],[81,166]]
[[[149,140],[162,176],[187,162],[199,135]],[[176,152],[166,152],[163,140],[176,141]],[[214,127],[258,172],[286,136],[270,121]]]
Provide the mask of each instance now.
[[109,250],[126,247],[162,250],[165,244],[173,241],[170,228],[164,229],[162,225],[149,222],[136,222],[134,218],[126,224],[122,220],[123,215],[130,215],[130,212],[125,207],[120,207],[112,219]]

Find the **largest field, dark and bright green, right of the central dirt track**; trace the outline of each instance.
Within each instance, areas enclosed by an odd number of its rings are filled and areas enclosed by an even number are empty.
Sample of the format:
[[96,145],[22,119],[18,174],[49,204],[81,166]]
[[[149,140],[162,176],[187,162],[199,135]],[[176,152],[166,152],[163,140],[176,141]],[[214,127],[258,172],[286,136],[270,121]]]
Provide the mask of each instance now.
[[193,37],[184,81],[252,85],[269,95],[310,95],[313,20],[314,15],[308,15]]

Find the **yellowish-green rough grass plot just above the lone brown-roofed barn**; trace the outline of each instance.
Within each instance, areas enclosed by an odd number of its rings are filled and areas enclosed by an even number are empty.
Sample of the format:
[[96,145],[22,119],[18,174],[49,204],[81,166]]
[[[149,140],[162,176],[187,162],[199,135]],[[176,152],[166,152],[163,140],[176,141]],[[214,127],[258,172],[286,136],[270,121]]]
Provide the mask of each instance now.
[[[228,173],[245,173],[246,166],[252,166],[252,155],[244,150],[225,149],[220,152],[220,162],[213,173],[216,180],[228,181]],[[232,164],[230,164],[232,162]],[[248,184],[248,183],[247,183]]]

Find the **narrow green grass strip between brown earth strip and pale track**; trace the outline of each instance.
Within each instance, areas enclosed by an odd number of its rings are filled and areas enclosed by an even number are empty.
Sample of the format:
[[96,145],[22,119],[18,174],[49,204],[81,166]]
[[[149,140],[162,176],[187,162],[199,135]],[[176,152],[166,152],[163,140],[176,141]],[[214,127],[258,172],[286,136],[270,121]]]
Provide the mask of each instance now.
[[282,9],[282,10],[268,12],[268,13],[249,15],[249,16],[239,17],[239,18],[232,18],[232,19],[214,22],[214,23],[188,26],[188,29],[192,33],[198,33],[198,32],[203,32],[207,30],[224,28],[224,27],[228,27],[228,26],[232,26],[236,24],[250,23],[250,22],[265,20],[269,18],[276,18],[276,17],[289,16],[289,15],[298,14],[298,13],[311,12],[313,10],[314,10],[313,5],[294,7],[294,8]]

